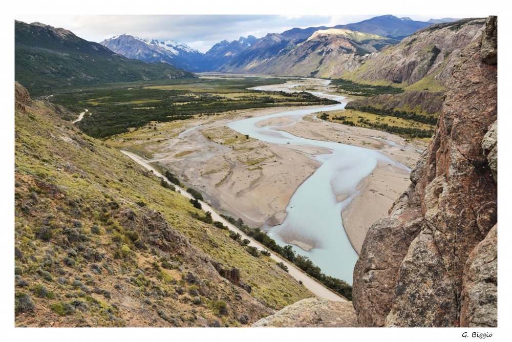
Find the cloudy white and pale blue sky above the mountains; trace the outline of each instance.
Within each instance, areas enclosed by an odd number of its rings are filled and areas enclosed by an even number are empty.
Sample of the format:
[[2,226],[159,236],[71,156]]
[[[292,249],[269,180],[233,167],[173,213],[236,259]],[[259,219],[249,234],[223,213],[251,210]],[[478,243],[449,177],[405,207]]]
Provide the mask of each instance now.
[[[431,17],[449,17],[448,14],[415,15],[386,12],[359,15],[55,15],[16,14],[25,23],[40,22],[72,31],[80,38],[100,42],[118,34],[129,34],[143,39],[175,40],[201,52],[208,51],[224,39],[240,36],[257,38],[267,33],[281,33],[294,27],[335,26],[357,23],[376,15],[393,14],[427,21]],[[458,13],[453,13],[457,15]],[[456,16],[456,17],[460,17]]]

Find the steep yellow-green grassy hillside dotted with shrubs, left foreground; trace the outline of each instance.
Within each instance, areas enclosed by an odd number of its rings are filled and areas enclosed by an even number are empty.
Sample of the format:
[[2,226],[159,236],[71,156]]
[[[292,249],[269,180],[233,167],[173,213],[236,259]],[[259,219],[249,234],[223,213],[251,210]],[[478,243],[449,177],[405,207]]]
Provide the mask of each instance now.
[[312,296],[54,105],[15,108],[16,326],[247,326]]

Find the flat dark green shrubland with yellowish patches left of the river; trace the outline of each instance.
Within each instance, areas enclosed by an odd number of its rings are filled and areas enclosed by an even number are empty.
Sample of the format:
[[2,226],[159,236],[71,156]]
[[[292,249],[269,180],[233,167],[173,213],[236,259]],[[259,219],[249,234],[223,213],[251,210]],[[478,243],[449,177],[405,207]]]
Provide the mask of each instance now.
[[[76,112],[83,111],[83,108],[89,109],[91,115],[84,116],[77,124],[83,132],[95,138],[128,133],[130,129],[151,123],[186,120],[195,116],[218,115],[250,108],[337,103],[307,92],[267,94],[246,89],[284,81],[279,78],[250,81],[190,79],[189,83],[168,80],[111,84],[60,91],[54,94],[52,101]],[[237,96],[230,96],[233,93]],[[156,127],[154,131],[154,135],[158,136]]]

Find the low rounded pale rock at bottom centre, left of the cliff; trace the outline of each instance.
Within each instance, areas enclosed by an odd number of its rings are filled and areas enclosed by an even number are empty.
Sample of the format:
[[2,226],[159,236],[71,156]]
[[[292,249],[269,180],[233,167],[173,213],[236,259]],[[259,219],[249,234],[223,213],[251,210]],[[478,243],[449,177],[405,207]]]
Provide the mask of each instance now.
[[307,298],[262,318],[252,327],[357,327],[351,302]]

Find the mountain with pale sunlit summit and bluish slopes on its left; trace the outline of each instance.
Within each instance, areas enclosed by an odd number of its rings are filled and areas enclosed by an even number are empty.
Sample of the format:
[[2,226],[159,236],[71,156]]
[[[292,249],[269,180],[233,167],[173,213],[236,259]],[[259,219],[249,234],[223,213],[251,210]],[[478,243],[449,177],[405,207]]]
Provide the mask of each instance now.
[[[288,32],[287,36],[293,36],[293,32]],[[375,34],[345,29],[318,30],[298,44],[283,35],[269,34],[219,70],[339,77],[360,67],[369,54],[397,42]]]

